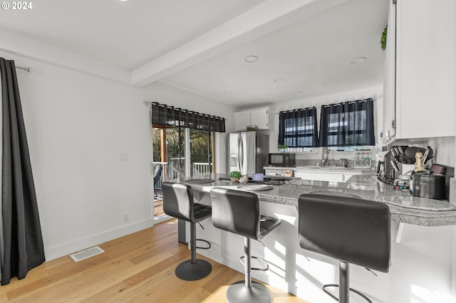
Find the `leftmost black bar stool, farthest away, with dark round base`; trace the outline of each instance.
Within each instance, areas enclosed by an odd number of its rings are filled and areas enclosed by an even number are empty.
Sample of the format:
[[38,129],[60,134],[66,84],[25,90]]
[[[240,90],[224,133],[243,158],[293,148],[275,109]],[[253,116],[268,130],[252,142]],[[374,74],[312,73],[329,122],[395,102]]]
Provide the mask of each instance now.
[[192,258],[177,266],[175,273],[182,280],[194,281],[209,275],[212,266],[206,260],[197,259],[196,241],[204,241],[211,247],[206,240],[196,238],[196,223],[211,216],[211,207],[193,201],[193,191],[190,186],[170,182],[162,183],[163,191],[163,211],[168,216],[179,218],[190,222],[190,250]]

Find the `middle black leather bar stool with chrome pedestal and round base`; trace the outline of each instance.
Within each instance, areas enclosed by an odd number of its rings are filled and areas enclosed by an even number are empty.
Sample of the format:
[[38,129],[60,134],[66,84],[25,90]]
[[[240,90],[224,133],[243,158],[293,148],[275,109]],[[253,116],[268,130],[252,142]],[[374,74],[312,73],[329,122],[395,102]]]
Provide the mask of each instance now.
[[[251,270],[268,270],[266,261],[252,257],[250,240],[261,240],[280,224],[280,219],[261,216],[258,196],[246,191],[212,188],[212,223],[216,228],[244,236],[245,280],[238,281],[227,290],[229,302],[271,302],[269,290],[258,282],[252,282]],[[252,258],[260,260],[264,268],[252,268]],[[244,260],[244,261],[243,261]]]

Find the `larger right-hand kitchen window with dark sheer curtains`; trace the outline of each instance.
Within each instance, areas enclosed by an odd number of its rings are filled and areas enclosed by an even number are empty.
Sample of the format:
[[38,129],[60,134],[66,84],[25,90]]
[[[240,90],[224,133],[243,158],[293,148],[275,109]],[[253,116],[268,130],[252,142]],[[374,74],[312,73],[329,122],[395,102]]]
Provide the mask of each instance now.
[[373,100],[323,105],[320,145],[323,147],[375,145]]

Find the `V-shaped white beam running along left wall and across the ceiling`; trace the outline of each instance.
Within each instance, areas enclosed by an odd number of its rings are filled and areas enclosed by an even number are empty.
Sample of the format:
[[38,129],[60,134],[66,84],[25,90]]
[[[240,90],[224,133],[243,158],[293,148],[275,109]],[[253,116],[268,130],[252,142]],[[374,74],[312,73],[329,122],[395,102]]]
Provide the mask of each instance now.
[[1,29],[0,51],[128,85],[144,86],[346,1],[266,0],[133,72]]

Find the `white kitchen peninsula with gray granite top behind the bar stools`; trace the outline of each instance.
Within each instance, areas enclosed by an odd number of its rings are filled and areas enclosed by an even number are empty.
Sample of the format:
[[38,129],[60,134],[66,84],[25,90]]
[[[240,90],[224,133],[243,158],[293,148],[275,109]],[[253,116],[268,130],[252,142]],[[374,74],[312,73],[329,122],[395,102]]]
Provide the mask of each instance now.
[[[214,180],[209,183],[179,182],[192,186],[199,203],[210,203],[211,188],[239,186],[220,181],[221,176],[224,175],[200,177]],[[253,245],[252,255],[263,257],[271,267],[268,272],[254,272],[255,278],[309,302],[333,302],[321,286],[337,282],[337,262],[299,247],[296,206],[301,193],[336,194],[387,203],[391,213],[390,272],[378,272],[375,277],[363,267],[352,266],[351,287],[373,302],[414,302],[414,297],[428,296],[433,300],[440,295],[454,296],[452,283],[456,270],[452,251],[456,207],[448,201],[413,197],[407,191],[380,183],[373,174],[355,175],[345,183],[292,179],[272,187],[255,193],[259,196],[261,213],[277,216],[282,223],[264,240],[264,247],[259,243]],[[242,255],[242,238],[217,230],[208,221],[203,225],[204,230],[198,230],[199,238],[209,240],[212,249],[198,253],[242,271],[238,261]],[[424,302],[437,302],[432,300]]]

